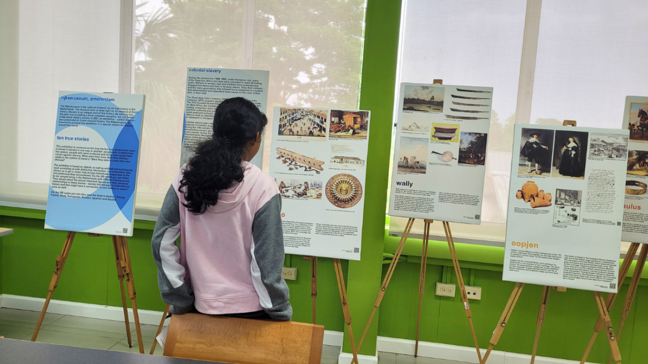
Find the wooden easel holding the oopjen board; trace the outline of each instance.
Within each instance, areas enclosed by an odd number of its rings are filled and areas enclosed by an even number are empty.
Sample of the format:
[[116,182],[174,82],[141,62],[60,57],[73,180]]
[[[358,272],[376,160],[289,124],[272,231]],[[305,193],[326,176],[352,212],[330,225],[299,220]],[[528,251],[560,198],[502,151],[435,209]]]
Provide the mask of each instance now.
[[[575,120],[564,120],[562,122],[562,125],[576,126],[576,122]],[[631,251],[629,251],[629,253],[631,253]],[[636,247],[634,247],[634,253],[636,253]],[[632,256],[634,256],[634,253],[632,253]],[[629,263],[627,264],[626,267],[626,262],[624,260],[620,270],[623,271],[623,269],[625,269],[625,272],[627,273],[628,267],[629,267]],[[621,285],[621,282],[623,282],[623,277],[625,277],[625,274],[621,275],[619,273],[619,286]],[[480,361],[481,364],[486,363],[489,355],[491,354],[492,348],[495,345],[497,345],[498,341],[500,340],[500,337],[502,336],[502,332],[504,331],[504,328],[507,322],[509,321],[509,318],[511,317],[511,313],[513,313],[513,308],[515,308],[515,304],[518,302],[518,298],[520,298],[520,293],[522,293],[523,288],[524,288],[524,283],[518,282],[515,284],[515,287],[511,292],[511,297],[509,297],[509,301],[506,302],[506,306],[504,307],[502,316],[500,316],[500,321],[498,321],[495,330],[492,332],[489,347],[486,350],[486,353],[484,354],[483,360]],[[555,287],[555,289],[558,291],[566,291],[566,288],[564,287]],[[538,319],[536,321],[537,328],[535,331],[535,339],[533,341],[533,352],[531,353],[531,364],[535,362],[535,356],[538,349],[538,340],[540,339],[540,330],[542,330],[542,324],[544,323],[544,316],[547,309],[547,303],[549,301],[550,290],[551,290],[550,286],[542,287],[542,299],[540,300],[540,308],[538,309]],[[610,350],[612,352],[611,359],[614,359],[614,361],[616,361],[617,364],[621,364],[621,352],[619,352],[619,345],[617,343],[616,336],[614,335],[614,328],[612,327],[612,321],[610,320],[610,313],[609,313],[611,302],[614,301],[614,297],[610,298],[610,296],[612,295],[616,297],[616,293],[609,293],[608,300],[606,301],[605,299],[603,299],[603,293],[596,292],[596,291],[594,292],[594,299],[596,300],[596,306],[599,309],[599,320],[596,323],[596,326],[594,328],[595,330],[594,336],[590,340],[590,345],[588,345],[585,355],[587,355],[589,353],[589,350],[592,348],[592,344],[594,343],[594,338],[596,338],[596,334],[598,334],[598,332],[601,331],[601,328],[605,327],[605,330],[607,332],[608,342],[610,343]],[[583,358],[583,361],[581,361],[581,363],[583,363],[585,359],[586,356]]]

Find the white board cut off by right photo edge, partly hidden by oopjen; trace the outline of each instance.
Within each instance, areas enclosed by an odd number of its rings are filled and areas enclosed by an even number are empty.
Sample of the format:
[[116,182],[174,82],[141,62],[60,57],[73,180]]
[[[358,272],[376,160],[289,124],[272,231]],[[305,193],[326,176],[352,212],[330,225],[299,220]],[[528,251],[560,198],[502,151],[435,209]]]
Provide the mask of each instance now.
[[648,244],[648,97],[626,97],[623,110],[621,128],[630,130],[630,142],[621,239]]

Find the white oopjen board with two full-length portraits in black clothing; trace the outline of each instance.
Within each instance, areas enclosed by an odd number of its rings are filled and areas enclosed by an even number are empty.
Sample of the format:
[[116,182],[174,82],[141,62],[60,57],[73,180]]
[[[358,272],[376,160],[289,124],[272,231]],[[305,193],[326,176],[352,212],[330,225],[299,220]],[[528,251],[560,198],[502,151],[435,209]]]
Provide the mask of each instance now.
[[627,130],[515,125],[503,280],[617,291],[627,148]]

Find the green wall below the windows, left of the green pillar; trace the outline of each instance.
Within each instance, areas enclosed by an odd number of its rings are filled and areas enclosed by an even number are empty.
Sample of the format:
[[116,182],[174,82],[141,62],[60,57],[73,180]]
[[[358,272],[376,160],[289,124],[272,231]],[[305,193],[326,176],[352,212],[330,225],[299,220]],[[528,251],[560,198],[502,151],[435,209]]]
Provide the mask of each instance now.
[[[56,256],[61,253],[65,231],[43,229],[44,211],[0,207],[0,226],[14,234],[0,238],[2,291],[10,295],[45,298],[52,278]],[[7,214],[31,216],[7,216]],[[42,215],[42,216],[41,216]],[[36,216],[36,217],[34,217]],[[135,229],[128,248],[137,290],[137,307],[163,311],[157,288],[157,269],[151,254],[152,223]],[[137,227],[136,225],[136,227]],[[295,321],[311,321],[310,261],[301,256],[286,256],[286,265],[297,267],[297,280],[288,280]],[[343,262],[347,273],[348,264]],[[331,259],[319,258],[318,323],[327,330],[342,331],[340,295]],[[53,299],[121,306],[121,293],[110,236],[90,238],[77,233]],[[130,302],[129,302],[130,303]]]

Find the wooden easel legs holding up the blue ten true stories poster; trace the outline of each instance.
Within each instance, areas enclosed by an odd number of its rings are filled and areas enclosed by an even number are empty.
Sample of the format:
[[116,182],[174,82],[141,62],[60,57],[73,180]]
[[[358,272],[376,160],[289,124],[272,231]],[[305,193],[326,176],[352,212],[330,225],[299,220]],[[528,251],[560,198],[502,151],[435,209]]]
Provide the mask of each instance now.
[[[52,293],[54,293],[56,286],[58,286],[58,280],[61,278],[61,274],[63,273],[63,268],[65,267],[67,256],[70,253],[72,242],[75,240],[75,234],[76,233],[74,231],[69,231],[67,233],[61,254],[56,257],[54,274],[52,275],[52,280],[49,283],[47,299],[45,299],[43,310],[41,311],[40,317],[38,317],[38,323],[36,324],[36,328],[34,329],[32,341],[36,341],[36,337],[38,337],[38,331],[40,330],[41,324],[43,324],[43,319],[45,318],[45,313],[47,312],[47,306],[49,306],[49,301],[52,299]],[[102,236],[102,234],[88,233],[87,236]],[[124,292],[124,277],[126,278],[126,287],[128,287],[128,297],[130,297],[130,301],[133,306],[133,317],[135,318],[135,330],[137,331],[137,344],[139,345],[139,352],[141,352],[141,354],[144,354],[144,343],[142,341],[142,329],[139,326],[137,302],[135,302],[135,282],[133,281],[133,269],[130,266],[128,242],[126,242],[126,236],[113,235],[112,238],[113,251],[115,252],[115,264],[117,264],[117,278],[119,279],[119,287],[121,288],[122,294],[122,306],[124,307],[124,321],[126,323],[126,337],[128,337],[128,347],[132,347],[132,343],[130,337],[130,323],[128,321],[128,306],[126,306],[126,293]]]

